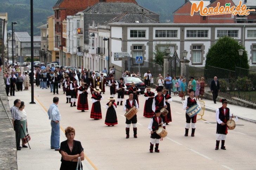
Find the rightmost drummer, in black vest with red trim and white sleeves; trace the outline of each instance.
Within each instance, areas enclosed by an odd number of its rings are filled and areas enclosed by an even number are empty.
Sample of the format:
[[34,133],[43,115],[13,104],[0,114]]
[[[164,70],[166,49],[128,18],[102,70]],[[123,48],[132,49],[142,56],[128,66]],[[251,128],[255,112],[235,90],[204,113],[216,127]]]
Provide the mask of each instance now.
[[216,120],[217,120],[217,139],[216,139],[216,148],[215,150],[219,149],[219,142],[221,140],[221,147],[220,149],[226,150],[224,144],[226,140],[226,135],[228,133],[228,127],[226,122],[232,117],[230,114],[230,109],[227,108],[228,101],[223,98],[220,100],[222,102],[222,107],[216,110]]

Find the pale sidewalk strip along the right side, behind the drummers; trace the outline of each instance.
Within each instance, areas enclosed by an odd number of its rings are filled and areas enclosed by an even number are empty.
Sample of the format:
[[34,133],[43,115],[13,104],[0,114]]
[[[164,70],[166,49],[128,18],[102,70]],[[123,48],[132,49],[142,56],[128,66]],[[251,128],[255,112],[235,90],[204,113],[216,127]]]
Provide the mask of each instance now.
[[[181,97],[179,95],[174,96],[173,93],[171,94],[172,101],[182,103]],[[188,97],[188,96],[186,96]],[[216,113],[216,110],[222,106],[222,103],[217,101],[217,104],[213,103],[213,100],[204,99],[205,102],[205,110],[212,111]],[[256,109],[246,108],[242,106],[236,106],[232,104],[228,104],[228,108],[230,108],[231,114],[233,114],[234,117],[238,117],[245,121],[250,121],[256,123]]]

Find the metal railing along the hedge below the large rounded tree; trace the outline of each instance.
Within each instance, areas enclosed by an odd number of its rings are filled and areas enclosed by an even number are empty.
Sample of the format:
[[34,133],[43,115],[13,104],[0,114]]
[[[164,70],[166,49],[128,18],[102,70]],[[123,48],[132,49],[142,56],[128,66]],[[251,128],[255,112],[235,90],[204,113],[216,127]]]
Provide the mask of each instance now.
[[256,71],[235,67],[235,71],[208,66],[207,69],[186,66],[187,84],[190,77],[195,79],[204,77],[205,92],[211,92],[211,81],[216,76],[220,84],[219,96],[231,99],[237,97],[256,103]]

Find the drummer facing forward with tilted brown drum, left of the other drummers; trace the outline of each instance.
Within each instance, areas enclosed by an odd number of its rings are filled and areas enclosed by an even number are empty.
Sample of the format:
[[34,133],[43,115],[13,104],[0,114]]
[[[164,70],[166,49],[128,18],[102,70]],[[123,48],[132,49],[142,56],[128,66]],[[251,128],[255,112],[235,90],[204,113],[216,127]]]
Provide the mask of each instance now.
[[[124,106],[123,106],[123,110],[124,111],[128,111],[130,108],[132,108],[133,106],[136,107],[136,109],[139,108],[138,106],[138,103],[136,100],[133,99],[133,91],[128,91],[128,94],[129,94],[129,98],[127,100],[124,101]],[[135,114],[133,116],[133,118],[131,118],[130,120],[128,120],[126,118],[126,138],[129,138],[129,132],[130,132],[130,126],[131,126],[131,123],[133,124],[133,137],[134,138],[137,138],[137,127],[136,127],[136,123],[137,123],[137,114]]]

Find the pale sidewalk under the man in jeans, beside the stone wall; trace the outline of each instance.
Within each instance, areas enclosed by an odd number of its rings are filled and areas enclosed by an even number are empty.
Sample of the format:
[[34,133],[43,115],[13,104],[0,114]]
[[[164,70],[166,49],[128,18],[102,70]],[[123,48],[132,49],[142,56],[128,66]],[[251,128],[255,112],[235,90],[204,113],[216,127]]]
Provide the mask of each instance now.
[[[46,112],[48,108],[41,106],[36,98],[34,98],[36,104],[29,104],[31,102],[31,93],[25,90],[15,92],[15,96],[8,97],[10,107],[13,106],[13,101],[17,98],[25,102],[28,132],[31,136],[31,141],[29,142],[31,149],[22,148],[17,151],[18,169],[58,170],[61,164],[61,155],[58,151],[50,149],[51,125]],[[61,128],[60,142],[66,140],[63,131]],[[28,146],[28,144],[26,145]],[[82,164],[84,170],[94,169],[86,159],[82,161]]]

